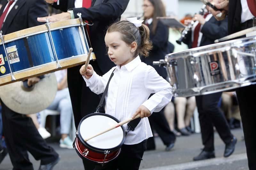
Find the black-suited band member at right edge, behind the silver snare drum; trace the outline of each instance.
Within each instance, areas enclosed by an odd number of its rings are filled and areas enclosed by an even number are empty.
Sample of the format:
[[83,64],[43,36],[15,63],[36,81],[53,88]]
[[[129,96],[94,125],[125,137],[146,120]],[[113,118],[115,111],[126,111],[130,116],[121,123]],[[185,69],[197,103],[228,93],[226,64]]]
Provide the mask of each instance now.
[[[255,26],[256,1],[255,0],[213,0],[212,3],[220,11],[209,11],[213,16],[222,20],[228,14],[228,34],[236,33]],[[222,13],[220,15],[220,13]],[[255,136],[255,98],[256,85],[249,85],[236,89],[236,96],[242,118],[244,140],[250,170],[256,169],[256,136]]]

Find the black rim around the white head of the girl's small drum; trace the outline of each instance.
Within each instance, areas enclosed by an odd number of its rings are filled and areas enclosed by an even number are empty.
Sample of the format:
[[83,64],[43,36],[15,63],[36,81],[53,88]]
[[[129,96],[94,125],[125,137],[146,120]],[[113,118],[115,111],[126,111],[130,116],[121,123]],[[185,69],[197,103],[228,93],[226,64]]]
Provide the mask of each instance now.
[[110,118],[112,118],[113,120],[115,120],[117,123],[120,122],[120,121],[119,121],[118,119],[116,119],[114,116],[108,115],[108,114],[106,114],[106,113],[91,113],[91,114],[89,114],[89,115],[86,115],[86,116],[84,116],[84,117],[81,119],[81,121],[80,121],[79,124],[78,124],[78,128],[77,128],[77,132],[78,132],[77,137],[78,137],[78,139],[80,140],[80,142],[81,142],[85,147],[88,147],[88,148],[90,148],[90,149],[93,149],[95,152],[100,152],[100,153],[102,153],[102,152],[104,152],[104,151],[106,151],[106,150],[108,150],[108,151],[111,152],[111,151],[115,151],[115,150],[117,150],[117,149],[120,149],[120,148],[122,147],[122,145],[124,144],[124,140],[125,140],[125,129],[124,129],[124,126],[123,126],[123,125],[120,126],[120,127],[123,129],[124,137],[123,137],[122,142],[121,142],[118,146],[116,146],[116,147],[108,148],[108,149],[101,149],[101,148],[96,148],[96,147],[94,147],[94,146],[88,144],[87,142],[84,142],[84,140],[81,140],[81,139],[83,139],[83,138],[82,138],[80,132],[78,131],[78,129],[80,129],[81,123],[83,122],[84,119],[86,119],[86,118],[88,118],[88,117],[90,117],[90,116],[93,116],[93,115],[107,116],[107,117],[110,117]]

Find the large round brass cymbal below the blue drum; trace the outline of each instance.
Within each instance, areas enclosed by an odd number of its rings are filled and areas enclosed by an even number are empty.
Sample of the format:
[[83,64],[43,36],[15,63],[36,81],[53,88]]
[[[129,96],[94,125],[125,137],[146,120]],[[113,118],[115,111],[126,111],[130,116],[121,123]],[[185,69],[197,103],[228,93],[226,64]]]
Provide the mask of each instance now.
[[0,86],[0,98],[11,110],[20,114],[33,114],[50,106],[57,92],[54,73],[44,75],[32,87],[25,87],[23,81]]

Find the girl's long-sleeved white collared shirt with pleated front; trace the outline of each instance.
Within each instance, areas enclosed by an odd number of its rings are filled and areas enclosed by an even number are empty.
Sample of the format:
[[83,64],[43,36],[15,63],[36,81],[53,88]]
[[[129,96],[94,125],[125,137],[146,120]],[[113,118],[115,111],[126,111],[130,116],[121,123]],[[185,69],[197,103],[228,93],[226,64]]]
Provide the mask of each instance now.
[[[131,118],[141,105],[153,113],[159,112],[171,101],[171,85],[153,67],[141,62],[139,56],[121,68],[120,65],[113,67],[102,77],[95,72],[88,80],[83,76],[86,85],[96,94],[103,93],[114,69],[105,97],[106,113],[119,121]],[[151,93],[155,94],[148,99]],[[127,129],[127,124],[124,128]],[[134,131],[127,134],[124,144],[138,144],[152,136],[146,117],[140,120]]]

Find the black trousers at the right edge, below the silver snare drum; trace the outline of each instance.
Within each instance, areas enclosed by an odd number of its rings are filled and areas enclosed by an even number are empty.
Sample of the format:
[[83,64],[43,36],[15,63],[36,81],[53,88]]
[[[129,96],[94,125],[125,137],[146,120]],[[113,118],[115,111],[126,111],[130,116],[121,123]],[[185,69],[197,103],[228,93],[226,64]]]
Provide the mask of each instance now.
[[255,94],[256,85],[249,85],[236,89],[250,170],[256,169]]

